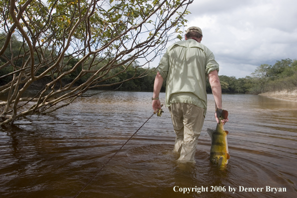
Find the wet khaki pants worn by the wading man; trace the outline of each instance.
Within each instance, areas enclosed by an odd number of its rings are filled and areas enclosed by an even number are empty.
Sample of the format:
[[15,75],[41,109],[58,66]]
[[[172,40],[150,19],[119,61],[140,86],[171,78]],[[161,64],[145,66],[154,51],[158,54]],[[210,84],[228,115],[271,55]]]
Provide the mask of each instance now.
[[190,103],[172,103],[168,109],[176,134],[173,150],[180,151],[177,160],[195,163],[194,155],[204,122],[204,108]]

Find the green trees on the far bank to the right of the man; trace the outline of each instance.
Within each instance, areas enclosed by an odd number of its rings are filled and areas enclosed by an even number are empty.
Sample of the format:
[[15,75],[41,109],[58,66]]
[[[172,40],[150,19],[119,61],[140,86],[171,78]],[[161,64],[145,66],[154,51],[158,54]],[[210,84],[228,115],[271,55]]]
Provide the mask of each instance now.
[[[236,79],[219,75],[222,92],[258,94],[266,91],[294,89],[297,87],[297,60],[277,60],[275,64],[261,64],[251,76]],[[207,85],[207,91],[211,87]]]

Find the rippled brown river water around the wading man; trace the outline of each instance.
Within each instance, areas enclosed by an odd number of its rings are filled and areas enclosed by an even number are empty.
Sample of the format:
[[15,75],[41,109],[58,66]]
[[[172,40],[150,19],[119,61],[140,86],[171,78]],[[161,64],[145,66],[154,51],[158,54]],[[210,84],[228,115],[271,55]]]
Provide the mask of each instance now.
[[[0,128],[0,197],[73,197],[152,114],[151,95],[80,97],[50,116]],[[222,99],[230,119],[225,169],[209,161],[206,129],[216,122],[208,94],[195,164],[176,162],[172,122],[163,108],[77,197],[297,197],[297,103],[247,94]]]

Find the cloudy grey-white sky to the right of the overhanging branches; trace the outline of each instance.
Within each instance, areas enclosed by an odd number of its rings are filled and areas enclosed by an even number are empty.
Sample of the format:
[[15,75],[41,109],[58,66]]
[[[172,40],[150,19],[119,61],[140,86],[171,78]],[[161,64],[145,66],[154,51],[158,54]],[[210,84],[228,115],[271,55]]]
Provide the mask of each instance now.
[[245,77],[260,64],[297,59],[297,0],[194,0],[187,27],[199,26],[219,75]]

